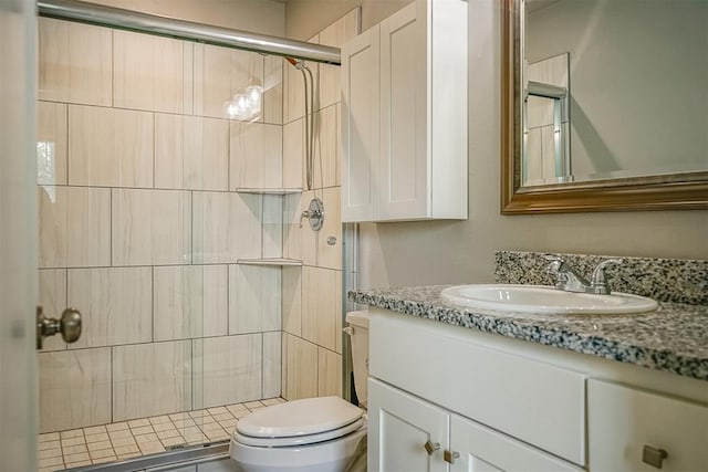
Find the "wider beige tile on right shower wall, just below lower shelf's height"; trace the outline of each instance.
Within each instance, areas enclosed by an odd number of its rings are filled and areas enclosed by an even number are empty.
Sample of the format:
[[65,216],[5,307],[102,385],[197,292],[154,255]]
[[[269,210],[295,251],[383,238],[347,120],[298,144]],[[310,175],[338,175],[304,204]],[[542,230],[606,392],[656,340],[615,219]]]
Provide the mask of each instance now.
[[[336,317],[341,317],[342,273],[302,268],[302,337],[336,349]],[[337,310],[339,308],[339,310]]]

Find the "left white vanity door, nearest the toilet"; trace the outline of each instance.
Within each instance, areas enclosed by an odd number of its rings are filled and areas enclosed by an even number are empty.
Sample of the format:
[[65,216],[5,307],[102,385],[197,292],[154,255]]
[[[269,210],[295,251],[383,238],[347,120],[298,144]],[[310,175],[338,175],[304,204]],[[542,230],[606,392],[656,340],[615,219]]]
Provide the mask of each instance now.
[[[368,380],[368,470],[445,472],[449,415],[378,380]],[[426,451],[426,442],[438,449]]]

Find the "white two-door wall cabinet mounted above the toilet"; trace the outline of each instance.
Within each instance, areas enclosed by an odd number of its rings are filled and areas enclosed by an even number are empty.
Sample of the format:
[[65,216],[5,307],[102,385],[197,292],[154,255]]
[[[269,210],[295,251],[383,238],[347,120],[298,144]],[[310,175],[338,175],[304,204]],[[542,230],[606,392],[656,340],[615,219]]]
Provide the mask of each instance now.
[[467,2],[415,0],[342,48],[342,220],[467,218]]

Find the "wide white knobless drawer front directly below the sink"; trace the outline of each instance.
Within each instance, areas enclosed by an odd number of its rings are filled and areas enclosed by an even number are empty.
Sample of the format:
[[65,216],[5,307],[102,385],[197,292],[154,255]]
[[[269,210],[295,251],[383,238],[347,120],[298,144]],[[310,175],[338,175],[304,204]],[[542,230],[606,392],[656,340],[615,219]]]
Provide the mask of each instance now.
[[[369,375],[571,462],[585,463],[585,376],[482,347],[471,329],[376,312]],[[452,367],[455,366],[455,367]]]

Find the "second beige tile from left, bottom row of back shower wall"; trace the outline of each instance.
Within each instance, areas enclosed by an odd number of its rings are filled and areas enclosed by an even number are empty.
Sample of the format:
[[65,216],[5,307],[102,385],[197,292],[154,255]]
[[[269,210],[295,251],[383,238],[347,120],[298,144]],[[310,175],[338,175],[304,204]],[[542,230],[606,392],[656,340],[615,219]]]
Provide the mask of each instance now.
[[113,348],[113,421],[191,408],[191,342]]

